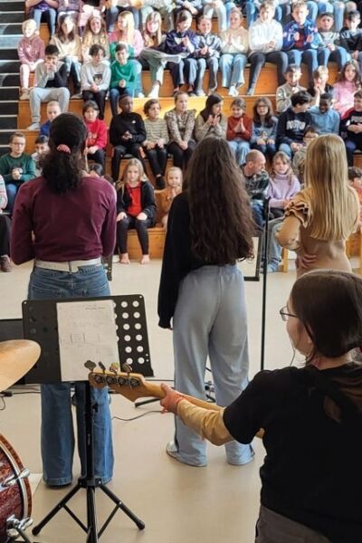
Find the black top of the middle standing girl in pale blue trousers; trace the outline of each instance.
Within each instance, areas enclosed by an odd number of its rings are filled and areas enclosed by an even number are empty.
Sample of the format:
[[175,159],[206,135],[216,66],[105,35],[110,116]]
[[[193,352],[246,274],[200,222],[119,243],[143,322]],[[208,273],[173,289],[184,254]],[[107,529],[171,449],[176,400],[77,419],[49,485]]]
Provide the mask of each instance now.
[[191,251],[190,210],[187,195],[174,199],[167,220],[167,235],[158,291],[158,326],[170,328],[174,316],[178,287],[187,273],[204,266]]

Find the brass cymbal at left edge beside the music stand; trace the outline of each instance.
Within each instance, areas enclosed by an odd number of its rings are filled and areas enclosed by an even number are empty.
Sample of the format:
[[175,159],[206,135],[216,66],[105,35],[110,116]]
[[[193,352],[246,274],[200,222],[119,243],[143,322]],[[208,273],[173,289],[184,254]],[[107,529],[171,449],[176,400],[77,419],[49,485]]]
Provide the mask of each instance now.
[[14,385],[40,357],[34,341],[14,339],[0,342],[0,391]]

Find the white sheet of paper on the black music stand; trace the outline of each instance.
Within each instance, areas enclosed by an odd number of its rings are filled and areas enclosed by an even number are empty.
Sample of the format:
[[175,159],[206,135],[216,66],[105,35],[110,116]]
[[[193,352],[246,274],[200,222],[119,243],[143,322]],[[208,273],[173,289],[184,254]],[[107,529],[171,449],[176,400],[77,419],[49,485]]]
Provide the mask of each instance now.
[[119,363],[116,314],[112,300],[56,304],[63,381],[85,381],[87,360]]

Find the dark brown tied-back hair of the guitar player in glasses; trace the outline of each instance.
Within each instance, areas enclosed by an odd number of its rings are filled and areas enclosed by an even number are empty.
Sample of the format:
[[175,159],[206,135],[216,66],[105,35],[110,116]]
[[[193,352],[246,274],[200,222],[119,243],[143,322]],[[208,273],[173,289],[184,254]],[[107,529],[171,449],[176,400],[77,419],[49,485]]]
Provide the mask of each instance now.
[[[314,345],[307,358],[311,369],[310,363],[317,357],[337,358],[362,347],[361,300],[362,278],[348,271],[310,271],[294,283],[291,290],[293,311]],[[362,378],[357,370],[351,366],[348,374],[333,380],[332,385],[338,386],[337,392],[347,396],[362,413]],[[319,387],[320,382],[323,385],[323,381],[328,385],[323,371],[319,373],[320,376],[316,374],[317,378],[313,377],[316,385]],[[327,392],[324,408],[335,420],[340,420],[338,405]]]

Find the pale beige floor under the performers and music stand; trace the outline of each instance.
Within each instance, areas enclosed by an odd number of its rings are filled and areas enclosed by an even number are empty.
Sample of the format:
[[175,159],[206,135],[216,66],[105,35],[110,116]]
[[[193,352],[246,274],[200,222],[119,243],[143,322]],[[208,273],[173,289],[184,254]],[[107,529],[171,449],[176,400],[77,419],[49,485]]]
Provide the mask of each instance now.
[[[11,273],[0,274],[0,319],[21,317],[21,301],[25,298],[30,270],[31,264],[28,263]],[[147,267],[137,262],[130,266],[116,263],[113,270],[113,294],[144,295],[155,377],[160,381],[172,379],[171,332],[157,327],[160,261],[153,261]],[[268,275],[266,368],[282,367],[291,362],[291,345],[279,310],[285,305],[294,279],[294,271]],[[262,282],[247,282],[246,293],[252,377],[260,367]],[[173,415],[150,413],[159,410],[158,403],[136,410],[123,397],[112,395],[111,410],[113,416],[121,418],[149,413],[131,422],[113,421],[116,465],[114,479],[110,482],[110,489],[145,521],[146,529],[138,531],[122,512],[118,512],[101,541],[252,543],[259,507],[259,468],[264,456],[259,440],[254,440],[254,462],[244,467],[227,464],[223,448],[210,444],[207,467],[189,467],[167,457],[165,445],[173,437]],[[14,395],[6,399],[6,409],[0,413],[1,433],[34,474],[42,472],[39,413],[40,396],[37,394]],[[78,473],[76,459],[74,481]],[[43,481],[40,482],[33,497],[35,523],[43,519],[64,493],[64,490],[49,490]],[[72,504],[85,520],[85,495],[78,493]],[[97,493],[97,507],[100,524],[111,509],[110,501],[102,493]],[[67,513],[61,511],[40,535],[32,536],[32,540],[38,543],[81,543],[85,541],[85,535]]]

